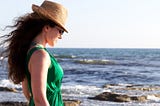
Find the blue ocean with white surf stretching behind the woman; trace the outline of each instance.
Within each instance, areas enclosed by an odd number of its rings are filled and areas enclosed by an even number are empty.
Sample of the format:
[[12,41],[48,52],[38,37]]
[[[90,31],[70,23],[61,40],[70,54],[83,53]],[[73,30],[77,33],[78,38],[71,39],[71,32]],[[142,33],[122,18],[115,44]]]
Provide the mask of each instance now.
[[[81,106],[160,106],[160,49],[47,48],[64,69],[64,99],[80,100]],[[0,63],[1,101],[26,101],[21,85],[7,79],[6,61]],[[109,86],[109,87],[104,87]],[[128,86],[135,89],[126,89]],[[146,95],[145,102],[113,102],[88,99],[102,92]]]

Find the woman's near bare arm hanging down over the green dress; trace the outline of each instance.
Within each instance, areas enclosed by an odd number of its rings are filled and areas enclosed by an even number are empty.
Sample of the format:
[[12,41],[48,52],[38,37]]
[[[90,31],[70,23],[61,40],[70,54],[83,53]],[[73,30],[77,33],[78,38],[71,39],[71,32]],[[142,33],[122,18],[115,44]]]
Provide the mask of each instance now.
[[31,86],[33,99],[36,106],[49,106],[46,97],[46,82],[50,58],[46,51],[35,51],[29,62],[31,73]]

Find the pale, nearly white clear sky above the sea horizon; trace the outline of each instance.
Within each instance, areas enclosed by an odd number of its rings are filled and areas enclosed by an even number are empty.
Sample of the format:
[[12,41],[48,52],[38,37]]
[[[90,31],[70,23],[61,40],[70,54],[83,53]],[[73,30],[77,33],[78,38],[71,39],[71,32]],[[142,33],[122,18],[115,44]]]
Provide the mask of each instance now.
[[[66,28],[55,47],[160,48],[160,0],[50,0],[68,9]],[[32,12],[43,0],[0,1],[0,28]],[[0,32],[2,34],[3,32]]]

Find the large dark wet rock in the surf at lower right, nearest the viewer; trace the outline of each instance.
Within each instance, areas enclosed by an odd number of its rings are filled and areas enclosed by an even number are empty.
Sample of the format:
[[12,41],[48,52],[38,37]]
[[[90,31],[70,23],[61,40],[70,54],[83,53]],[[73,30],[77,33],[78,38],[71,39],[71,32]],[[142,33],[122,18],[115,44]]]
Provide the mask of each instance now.
[[113,101],[113,102],[147,101],[146,96],[128,96],[128,95],[116,94],[112,92],[103,92],[95,97],[89,97],[89,99]]

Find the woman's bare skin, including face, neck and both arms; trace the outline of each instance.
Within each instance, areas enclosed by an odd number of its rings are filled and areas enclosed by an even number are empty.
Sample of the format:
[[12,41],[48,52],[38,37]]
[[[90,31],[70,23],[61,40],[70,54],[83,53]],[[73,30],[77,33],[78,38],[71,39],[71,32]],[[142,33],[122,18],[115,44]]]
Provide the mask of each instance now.
[[[62,35],[59,33],[59,28],[52,28],[46,25],[43,27],[42,32],[37,35],[33,41],[44,47],[46,47],[46,44],[53,47],[58,39],[62,39]],[[35,51],[30,58],[28,68],[31,74],[31,86],[35,106],[49,106],[46,98],[46,82],[50,64],[49,54],[45,50]],[[25,97],[29,100],[30,92],[28,90],[28,82],[26,78],[22,82],[22,88]]]

